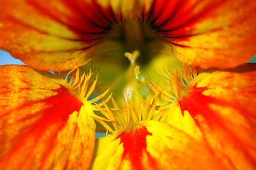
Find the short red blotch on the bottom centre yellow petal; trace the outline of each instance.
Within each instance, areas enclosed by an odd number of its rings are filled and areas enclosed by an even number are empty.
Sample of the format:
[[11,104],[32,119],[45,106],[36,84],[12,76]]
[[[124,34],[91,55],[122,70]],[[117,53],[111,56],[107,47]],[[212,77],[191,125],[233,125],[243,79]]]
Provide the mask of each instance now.
[[[143,151],[147,154],[150,159],[150,154],[147,152],[147,140],[146,137],[152,135],[148,130],[143,126],[142,128],[136,128],[130,132],[123,132],[120,137],[120,144],[123,143],[123,158],[130,159],[133,169],[143,169],[142,160]],[[150,162],[152,163],[152,162]]]

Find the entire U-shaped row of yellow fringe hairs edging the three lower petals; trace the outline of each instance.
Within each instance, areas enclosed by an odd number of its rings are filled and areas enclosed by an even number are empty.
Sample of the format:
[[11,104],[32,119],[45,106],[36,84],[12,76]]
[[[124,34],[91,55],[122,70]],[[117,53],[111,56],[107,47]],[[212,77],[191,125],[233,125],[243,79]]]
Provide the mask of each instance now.
[[[111,95],[100,103],[96,103],[96,101],[101,100],[108,94],[109,89],[95,98],[89,98],[96,87],[97,81],[97,76],[94,81],[90,81],[93,76],[91,70],[86,74],[82,68],[76,68],[72,69],[67,74],[65,74],[65,72],[60,72],[60,74],[55,73],[55,75],[65,80],[65,86],[68,89],[78,91],[78,96],[84,103],[84,106],[88,106],[89,104],[90,106],[94,106],[94,111],[100,111],[103,116],[91,113],[91,117],[101,123],[101,125],[106,128],[107,132],[113,133],[119,130],[129,131],[131,128],[143,125],[143,123],[149,120],[159,121],[165,118],[170,105],[174,103],[174,101],[179,101],[181,99],[181,89],[187,89],[187,84],[189,84],[198,74],[196,69],[191,69],[191,67],[187,66],[182,68],[183,79],[179,72],[173,72],[172,70],[169,70],[169,72],[171,74],[167,74],[169,78],[166,79],[172,84],[173,93],[170,93],[168,90],[165,90],[165,88],[159,86],[155,81],[152,81],[152,84],[149,84],[149,86],[155,96],[152,98],[151,103],[150,95],[145,101],[139,96],[138,106],[135,106],[133,99],[130,99],[129,95],[126,94],[126,98],[122,98],[121,100],[121,108],[118,106],[118,103],[111,98]],[[168,103],[162,106],[157,106],[158,97]],[[109,108],[106,105],[110,99],[113,103],[113,108]]]

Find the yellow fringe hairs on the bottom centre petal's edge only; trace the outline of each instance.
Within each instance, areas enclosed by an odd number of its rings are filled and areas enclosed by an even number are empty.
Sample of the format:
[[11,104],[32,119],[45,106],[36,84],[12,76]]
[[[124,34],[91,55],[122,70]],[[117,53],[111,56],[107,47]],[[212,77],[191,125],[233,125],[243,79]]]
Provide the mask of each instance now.
[[110,124],[103,120],[98,121],[108,132],[113,133],[118,130],[129,131],[131,128],[134,128],[137,125],[143,125],[143,123],[149,120],[161,120],[165,111],[160,111],[155,117],[153,116],[157,107],[157,97],[158,94],[156,93],[152,103],[150,103],[151,96],[149,95],[146,98],[144,105],[143,99],[139,97],[138,106],[136,107],[134,101],[128,99],[127,95],[126,98],[121,100],[122,109],[112,98],[113,108],[108,108],[106,105],[104,108],[99,108],[99,111],[101,111],[101,113],[108,119]]

